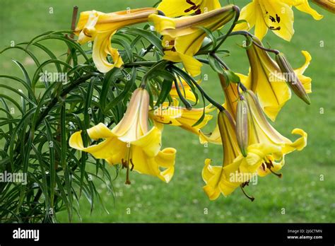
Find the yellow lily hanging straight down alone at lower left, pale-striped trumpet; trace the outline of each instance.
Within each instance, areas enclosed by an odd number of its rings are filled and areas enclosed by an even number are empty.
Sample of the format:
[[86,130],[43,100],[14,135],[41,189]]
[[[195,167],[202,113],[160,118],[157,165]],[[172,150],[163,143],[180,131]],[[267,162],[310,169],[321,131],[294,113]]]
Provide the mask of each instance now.
[[138,88],[131,96],[124,117],[112,130],[102,123],[87,130],[91,139],[104,141],[84,147],[81,131],[77,131],[70,137],[69,145],[105,159],[110,165],[121,163],[127,168],[126,184],[130,184],[129,169],[169,182],[175,170],[176,150],[164,148],[160,151],[162,125],[156,124],[149,130],[148,107],[148,91]]

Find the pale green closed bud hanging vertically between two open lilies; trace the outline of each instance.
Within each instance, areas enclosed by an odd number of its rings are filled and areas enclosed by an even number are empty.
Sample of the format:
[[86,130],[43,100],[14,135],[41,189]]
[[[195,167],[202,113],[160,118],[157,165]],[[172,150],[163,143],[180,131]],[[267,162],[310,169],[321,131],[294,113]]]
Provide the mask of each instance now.
[[247,156],[248,146],[248,115],[247,115],[247,102],[239,100],[237,102],[237,117],[236,117],[236,136],[237,143],[240,147],[243,156]]

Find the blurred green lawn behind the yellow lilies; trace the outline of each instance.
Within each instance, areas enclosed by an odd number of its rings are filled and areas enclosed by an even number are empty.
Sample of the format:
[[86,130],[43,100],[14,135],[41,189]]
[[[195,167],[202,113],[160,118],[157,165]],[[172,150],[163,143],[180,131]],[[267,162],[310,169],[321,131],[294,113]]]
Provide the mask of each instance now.
[[[230,1],[231,2],[231,1]],[[248,1],[235,1],[242,7]],[[0,9],[0,49],[14,41],[24,42],[48,30],[68,30],[74,5],[79,11],[95,9],[112,12],[127,7],[152,6],[155,0],[114,0],[114,1],[20,1],[2,0]],[[221,2],[226,3],[226,1]],[[334,78],[335,78],[335,18],[330,13],[312,5],[324,14],[322,21],[314,21],[311,16],[295,11],[295,35],[291,42],[266,36],[265,42],[280,49],[296,68],[304,59],[300,50],[312,54],[312,63],[305,74],[312,77],[312,105],[293,98],[283,107],[274,126],[290,139],[290,131],[296,127],[307,131],[308,145],[301,152],[286,157],[282,170],[283,179],[274,175],[259,178],[257,185],[249,185],[247,192],[256,199],[249,199],[237,189],[230,197],[220,197],[209,201],[201,187],[201,170],[205,158],[213,159],[213,164],[221,165],[221,146],[209,145],[204,148],[196,136],[179,128],[165,127],[163,147],[177,148],[175,176],[169,184],[154,177],[131,173],[131,186],[124,185],[125,173],[121,172],[113,183],[116,198],[103,185],[98,188],[109,214],[100,206],[90,213],[90,205],[81,198],[80,208],[83,222],[334,222]],[[53,13],[50,13],[50,12]],[[225,42],[232,56],[225,60],[229,66],[242,74],[247,74],[248,63],[244,49],[236,44],[242,38],[232,37]],[[324,45],[322,45],[324,44]],[[47,45],[61,55],[66,52],[58,42]],[[22,76],[11,58],[22,61],[30,72],[35,65],[18,51],[0,55],[1,74]],[[216,74],[204,67],[208,81],[203,85],[208,94],[222,101],[218,90]],[[8,83],[1,79],[0,83]],[[322,113],[323,112],[323,113]],[[213,123],[208,126],[211,131]],[[114,172],[114,168],[110,168]],[[320,180],[320,177],[323,177]],[[285,209],[285,214],[282,214]],[[130,213],[129,213],[130,212]],[[59,213],[60,221],[67,221],[66,213]],[[74,221],[80,221],[74,218]]]

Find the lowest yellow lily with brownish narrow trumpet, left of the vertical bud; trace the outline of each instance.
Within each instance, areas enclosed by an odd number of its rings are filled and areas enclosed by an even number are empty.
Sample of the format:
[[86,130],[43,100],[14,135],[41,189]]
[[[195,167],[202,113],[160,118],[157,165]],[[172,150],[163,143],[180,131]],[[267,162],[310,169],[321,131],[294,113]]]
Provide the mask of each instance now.
[[213,166],[211,160],[206,159],[202,170],[202,178],[206,183],[203,189],[210,200],[217,199],[220,194],[226,197],[237,187],[247,183],[257,173],[249,172],[244,167],[257,165],[266,154],[278,151],[274,146],[266,146],[261,151],[257,148],[249,148],[249,156],[245,158],[237,144],[235,122],[228,111],[219,112],[218,127],[223,143],[223,164],[222,166]]

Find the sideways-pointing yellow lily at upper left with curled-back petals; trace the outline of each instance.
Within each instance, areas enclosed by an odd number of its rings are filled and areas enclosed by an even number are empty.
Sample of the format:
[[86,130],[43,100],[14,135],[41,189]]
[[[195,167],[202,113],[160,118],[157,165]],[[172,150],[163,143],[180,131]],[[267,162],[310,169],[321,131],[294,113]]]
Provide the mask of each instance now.
[[[98,11],[81,12],[74,33],[78,35],[78,42],[83,45],[86,42],[93,43],[93,61],[97,69],[107,73],[113,67],[121,67],[122,58],[117,49],[112,48],[110,40],[119,28],[136,23],[148,21],[148,16],[158,13],[155,8],[138,8],[114,13],[102,13]],[[107,55],[112,57],[113,64],[107,60]]]

